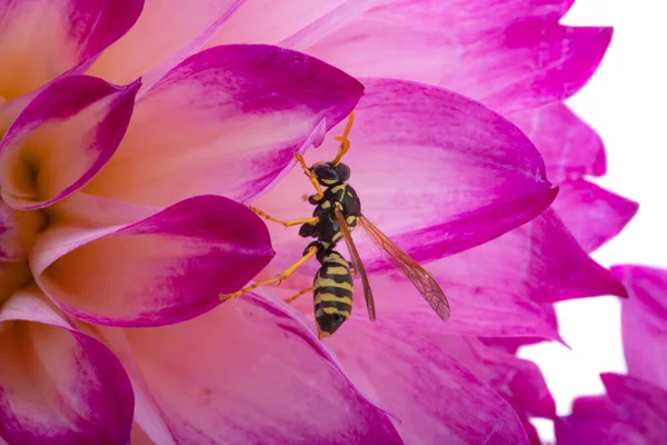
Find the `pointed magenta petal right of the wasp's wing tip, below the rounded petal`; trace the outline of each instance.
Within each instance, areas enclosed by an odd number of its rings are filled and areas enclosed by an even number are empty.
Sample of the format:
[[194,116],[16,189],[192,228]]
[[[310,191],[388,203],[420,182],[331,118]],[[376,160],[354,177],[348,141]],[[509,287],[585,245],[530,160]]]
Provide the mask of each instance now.
[[[460,257],[460,266],[448,275],[456,283],[475,284],[481,293],[522,295],[538,303],[627,296],[623,285],[578,246],[551,209]],[[475,269],[464,271],[470,264]],[[447,268],[442,271],[447,274]]]

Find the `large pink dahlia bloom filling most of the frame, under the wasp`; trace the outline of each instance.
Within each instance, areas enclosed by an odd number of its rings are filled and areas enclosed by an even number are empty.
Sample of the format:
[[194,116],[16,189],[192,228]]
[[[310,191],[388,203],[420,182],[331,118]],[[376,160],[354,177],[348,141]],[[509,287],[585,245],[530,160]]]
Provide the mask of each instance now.
[[[611,31],[558,24],[570,4],[6,2],[0,437],[535,439],[554,403],[511,353],[559,340],[552,303],[625,295],[587,253],[636,210],[583,178],[604,148],[561,101]],[[300,256],[239,202],[307,216],[293,154],[330,159],[352,109],[364,212],[452,317],[360,238],[378,320],[358,307],[320,343],[308,298],[281,300],[316,265],[218,295]]]

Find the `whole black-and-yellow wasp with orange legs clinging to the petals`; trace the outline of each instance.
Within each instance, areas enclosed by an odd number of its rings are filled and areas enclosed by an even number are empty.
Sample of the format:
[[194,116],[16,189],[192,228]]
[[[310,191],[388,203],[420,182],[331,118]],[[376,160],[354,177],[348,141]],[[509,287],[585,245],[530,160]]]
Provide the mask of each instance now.
[[[295,158],[316,190],[315,195],[307,198],[309,204],[316,206],[310,218],[286,221],[248,206],[260,217],[281,224],[285,227],[300,225],[299,236],[316,238],[316,240],[306,247],[298,261],[277,277],[255,283],[233,294],[222,294],[220,295],[221,300],[238,297],[268,284],[280,284],[302,264],[316,257],[321,267],[313,278],[312,287],[301,290],[293,297],[286,299],[286,301],[291,303],[301,295],[312,291],[318,337],[320,339],[329,337],[349,319],[352,312],[352,275],[358,275],[361,278],[368,316],[371,320],[375,320],[376,308],[372,290],[351,236],[355,228],[361,227],[370,239],[387,254],[391,263],[406,275],[436,314],[444,320],[449,318],[449,303],[434,277],[361,212],[361,201],[357,191],[347,182],[350,178],[350,168],[340,161],[350,148],[348,136],[354,120],[355,115],[351,112],[342,136],[336,138],[340,141],[340,146],[334,160],[316,162],[308,167],[303,157],[295,154]],[[347,245],[350,255],[349,263],[336,250],[340,239],[344,239]]]

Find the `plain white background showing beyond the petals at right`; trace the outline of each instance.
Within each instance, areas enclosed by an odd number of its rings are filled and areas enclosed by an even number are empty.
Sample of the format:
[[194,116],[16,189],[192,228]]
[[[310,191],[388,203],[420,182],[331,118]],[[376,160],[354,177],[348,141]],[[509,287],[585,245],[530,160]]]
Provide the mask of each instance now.
[[[578,0],[564,24],[613,26],[611,44],[591,81],[570,107],[601,136],[607,175],[594,181],[639,201],[626,229],[593,257],[604,266],[644,264],[667,268],[667,1]],[[620,305],[614,297],[557,305],[557,344],[524,348],[542,369],[559,415],[574,398],[604,392],[601,372],[625,373]],[[550,423],[540,435],[552,439]]]

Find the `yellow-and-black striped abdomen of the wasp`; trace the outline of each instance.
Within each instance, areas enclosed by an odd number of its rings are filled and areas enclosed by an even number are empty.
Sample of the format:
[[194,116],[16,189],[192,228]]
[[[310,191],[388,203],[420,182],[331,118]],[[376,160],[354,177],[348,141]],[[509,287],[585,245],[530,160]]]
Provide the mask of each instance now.
[[325,338],[350,317],[354,280],[348,261],[339,253],[327,254],[321,264],[312,281],[312,296],[318,335]]

